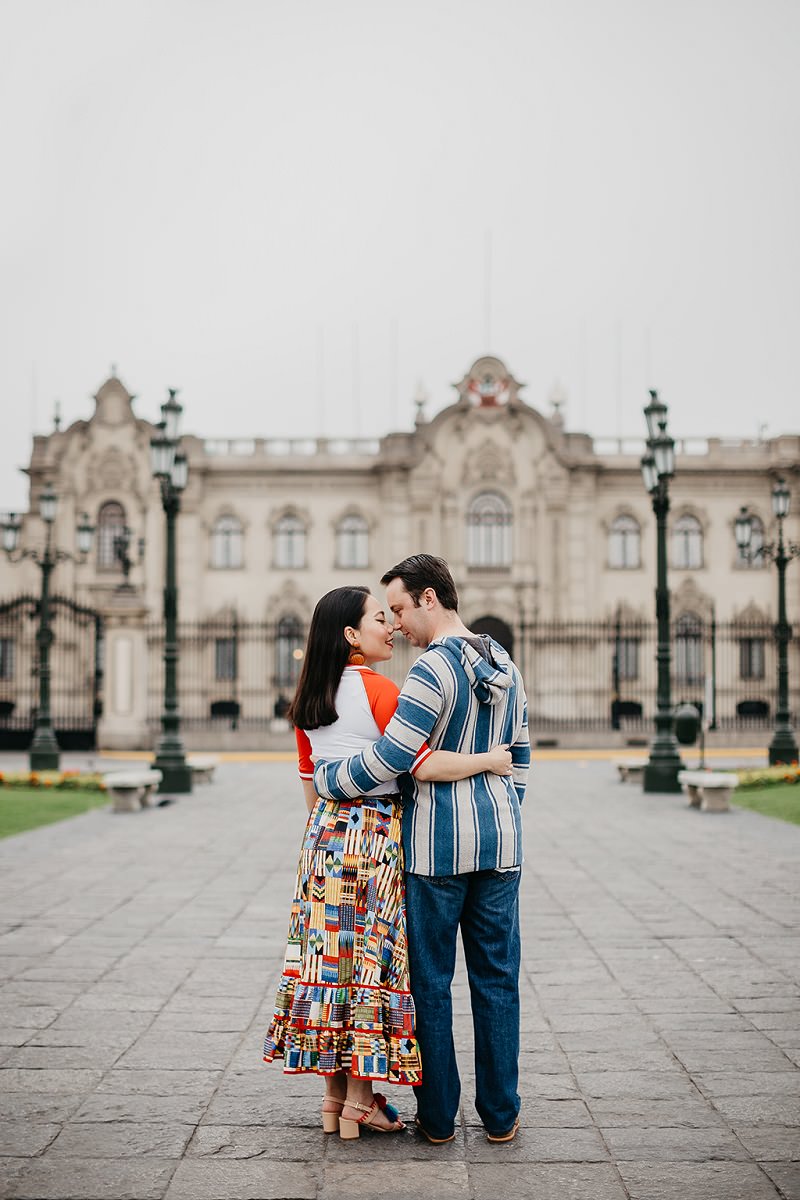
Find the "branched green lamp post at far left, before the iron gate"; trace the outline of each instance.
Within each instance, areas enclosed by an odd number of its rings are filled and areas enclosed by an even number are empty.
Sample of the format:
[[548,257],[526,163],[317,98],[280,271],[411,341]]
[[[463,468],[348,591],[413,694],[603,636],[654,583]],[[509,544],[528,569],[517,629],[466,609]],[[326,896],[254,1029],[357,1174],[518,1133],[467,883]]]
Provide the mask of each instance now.
[[58,550],[53,545],[53,526],[58,506],[59,498],[50,484],[47,484],[38,500],[38,512],[44,522],[43,550],[17,550],[22,518],[14,512],[10,512],[2,523],[2,548],[6,552],[6,557],[12,563],[18,563],[23,558],[31,558],[42,572],[42,588],[38,599],[38,630],[36,634],[38,704],[36,708],[34,740],[29,751],[31,770],[59,769],[59,743],[55,738],[53,716],[50,714],[50,646],[53,644],[53,630],[50,629],[50,575],[56,563],[62,563],[65,559],[72,559],[74,563],[84,563],[91,550],[91,539],[95,533],[95,527],[90,524],[89,516],[84,512],[77,527],[78,553],[72,554],[67,550]]

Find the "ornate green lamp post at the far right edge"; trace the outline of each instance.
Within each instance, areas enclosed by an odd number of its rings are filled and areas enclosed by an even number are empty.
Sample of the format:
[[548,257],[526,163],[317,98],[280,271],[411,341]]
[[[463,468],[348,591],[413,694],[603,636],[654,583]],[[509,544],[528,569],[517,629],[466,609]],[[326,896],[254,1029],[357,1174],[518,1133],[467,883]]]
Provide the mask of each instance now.
[[783,521],[789,515],[789,488],[786,481],[778,479],[772,488],[772,512],[777,521],[777,541],[765,542],[751,551],[753,521],[745,506],[736,517],[736,545],[745,558],[763,556],[777,566],[777,624],[775,642],[777,644],[777,708],[775,710],[775,732],[769,745],[770,764],[778,762],[798,762],[798,742],[792,730],[789,710],[789,641],[792,625],[786,619],[786,569],[793,558],[800,558],[800,545],[783,540]]

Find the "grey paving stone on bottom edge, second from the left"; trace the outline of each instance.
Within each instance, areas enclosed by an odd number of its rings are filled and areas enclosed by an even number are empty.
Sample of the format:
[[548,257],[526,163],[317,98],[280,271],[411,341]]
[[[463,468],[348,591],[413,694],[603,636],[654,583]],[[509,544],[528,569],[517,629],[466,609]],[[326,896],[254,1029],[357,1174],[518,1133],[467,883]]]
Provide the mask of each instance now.
[[306,1163],[184,1159],[166,1200],[315,1200],[320,1174]]

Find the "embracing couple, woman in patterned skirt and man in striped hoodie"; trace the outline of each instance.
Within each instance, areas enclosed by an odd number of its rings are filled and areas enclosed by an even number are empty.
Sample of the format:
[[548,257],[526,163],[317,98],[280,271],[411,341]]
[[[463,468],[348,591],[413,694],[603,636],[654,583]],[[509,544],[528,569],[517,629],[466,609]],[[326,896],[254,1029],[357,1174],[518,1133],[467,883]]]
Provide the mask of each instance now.
[[[444,559],[414,554],[380,582],[392,620],[363,587],[321,598],[288,714],[309,816],[264,1058],[323,1076],[326,1133],[404,1129],[373,1092],[381,1081],[411,1085],[420,1133],[451,1141],[461,928],[475,1106],[489,1141],[510,1141],[530,763],[522,678],[461,620]],[[397,632],[423,652],[399,694],[372,670]]]

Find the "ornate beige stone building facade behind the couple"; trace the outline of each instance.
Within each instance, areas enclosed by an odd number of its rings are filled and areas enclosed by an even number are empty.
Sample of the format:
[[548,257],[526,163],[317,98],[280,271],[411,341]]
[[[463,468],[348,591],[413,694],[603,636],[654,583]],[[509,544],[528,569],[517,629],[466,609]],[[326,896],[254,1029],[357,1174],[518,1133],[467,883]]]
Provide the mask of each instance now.
[[[542,730],[604,726],[609,702],[622,704],[622,724],[646,721],[655,521],[642,445],[566,432],[558,406],[543,415],[521,391],[500,360],[482,358],[456,385],[455,403],[432,420],[420,413],[410,433],[374,442],[182,439],[190,470],[178,572],[190,730],[213,718],[235,726],[240,742],[261,744],[259,731],[290,694],[317,598],[345,582],[378,589],[387,566],[420,550],[447,558],[465,622],[499,636],[521,662],[534,730],[536,721]],[[54,586],[107,614],[107,744],[145,742],[157,710],[164,520],[150,474],[152,431],[113,377],[91,418],[35,439],[30,463],[23,541],[43,535],[36,512],[47,482],[60,497],[60,545],[71,544],[83,511],[97,527],[91,558],[59,565]],[[769,540],[771,487],[786,478],[795,491],[786,532],[800,540],[800,436],[679,438],[676,451],[669,530],[676,691],[698,698],[699,689],[703,698],[715,671],[717,712],[733,721],[742,703],[745,710],[747,702],[774,703],[776,612],[775,571],[738,556],[734,521],[746,504],[756,539]],[[133,593],[119,587],[125,528]],[[38,587],[30,563],[2,562],[0,571],[4,599]],[[800,570],[789,571],[788,583],[796,620]],[[723,642],[729,664],[709,667]],[[793,654],[796,686],[796,647]],[[397,677],[409,661],[403,647]],[[0,696],[18,697],[20,686],[0,678]]]

